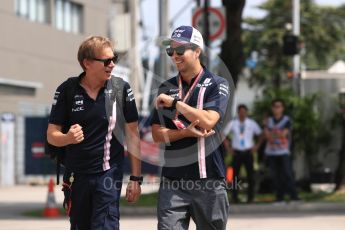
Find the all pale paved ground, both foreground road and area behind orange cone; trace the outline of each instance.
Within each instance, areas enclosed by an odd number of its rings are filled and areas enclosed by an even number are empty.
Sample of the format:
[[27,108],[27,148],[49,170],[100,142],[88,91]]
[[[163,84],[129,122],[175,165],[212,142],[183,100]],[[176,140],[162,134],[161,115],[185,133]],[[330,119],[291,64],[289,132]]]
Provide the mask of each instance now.
[[[144,192],[150,192],[157,188],[144,188]],[[56,188],[55,196],[58,203],[62,201],[60,188]],[[0,230],[64,230],[69,228],[67,218],[47,220],[43,218],[27,218],[21,215],[25,210],[33,210],[44,207],[47,196],[46,187],[42,186],[16,186],[0,188]],[[122,230],[153,230],[156,229],[154,216],[121,218]],[[191,224],[191,230],[195,225]],[[231,215],[227,229],[235,230],[344,230],[345,214],[235,214]]]

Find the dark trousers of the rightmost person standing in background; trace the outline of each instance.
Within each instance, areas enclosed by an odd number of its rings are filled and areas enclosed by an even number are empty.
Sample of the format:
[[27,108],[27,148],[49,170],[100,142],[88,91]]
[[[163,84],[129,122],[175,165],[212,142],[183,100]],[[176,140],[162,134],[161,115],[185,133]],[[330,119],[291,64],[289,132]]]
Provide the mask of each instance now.
[[290,156],[268,156],[268,164],[276,190],[276,200],[283,201],[285,193],[290,195],[292,200],[297,200],[298,195],[295,180],[292,172]]

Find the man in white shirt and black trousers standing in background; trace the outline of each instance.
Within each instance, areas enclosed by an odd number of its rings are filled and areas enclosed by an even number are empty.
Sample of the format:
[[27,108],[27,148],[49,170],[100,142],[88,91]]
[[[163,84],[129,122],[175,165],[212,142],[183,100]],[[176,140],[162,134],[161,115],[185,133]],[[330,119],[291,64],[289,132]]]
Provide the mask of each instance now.
[[[227,152],[233,156],[232,167],[234,170],[235,182],[239,179],[241,166],[244,165],[247,173],[248,191],[247,202],[254,201],[254,157],[263,142],[262,130],[259,125],[248,117],[248,108],[241,104],[237,107],[238,117],[230,121],[224,128],[224,146]],[[255,137],[258,141],[255,143]],[[234,183],[232,199],[239,203],[237,183]]]

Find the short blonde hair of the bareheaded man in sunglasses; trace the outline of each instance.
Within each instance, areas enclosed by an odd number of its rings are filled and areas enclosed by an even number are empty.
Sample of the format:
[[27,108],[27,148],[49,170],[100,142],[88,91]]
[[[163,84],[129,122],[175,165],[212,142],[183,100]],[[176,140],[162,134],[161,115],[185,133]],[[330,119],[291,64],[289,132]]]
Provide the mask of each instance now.
[[102,36],[90,36],[87,37],[79,46],[78,50],[78,61],[85,70],[85,66],[83,64],[84,59],[91,59],[95,58],[97,52],[105,49],[111,48],[114,50],[114,44],[110,41],[109,38],[102,37]]

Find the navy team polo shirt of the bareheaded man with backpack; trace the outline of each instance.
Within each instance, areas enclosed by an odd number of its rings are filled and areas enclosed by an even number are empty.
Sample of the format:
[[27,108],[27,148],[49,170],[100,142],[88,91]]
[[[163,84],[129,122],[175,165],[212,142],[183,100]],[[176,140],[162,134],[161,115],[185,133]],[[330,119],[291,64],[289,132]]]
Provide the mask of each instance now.
[[[79,76],[79,82],[84,74]],[[84,140],[67,146],[65,166],[75,173],[99,173],[121,166],[124,158],[123,143],[119,143],[111,130],[105,109],[105,87],[100,89],[96,100],[78,84],[73,92],[71,111],[67,111],[63,82],[56,90],[49,123],[63,126],[79,124],[84,132]],[[127,123],[138,121],[134,95],[127,82],[123,90],[123,114]],[[69,115],[68,115],[69,113]],[[69,119],[70,117],[70,119]],[[119,128],[115,125],[115,128]]]

